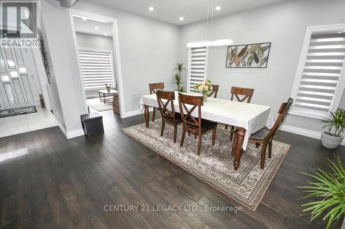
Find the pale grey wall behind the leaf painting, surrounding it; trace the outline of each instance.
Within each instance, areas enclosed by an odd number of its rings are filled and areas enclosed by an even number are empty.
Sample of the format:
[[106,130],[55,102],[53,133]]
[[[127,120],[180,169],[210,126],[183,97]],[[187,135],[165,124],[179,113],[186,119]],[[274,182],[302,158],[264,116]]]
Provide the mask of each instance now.
[[[291,94],[306,27],[345,23],[345,1],[287,1],[213,20],[213,39],[234,44],[272,42],[267,69],[227,69],[226,47],[211,48],[207,77],[219,84],[219,98],[229,98],[230,87],[254,88],[252,102],[273,107]],[[206,23],[181,27],[179,57],[187,63],[186,43],[205,39]],[[345,107],[343,95],[341,107]],[[324,123],[289,116],[285,124],[319,132]]]

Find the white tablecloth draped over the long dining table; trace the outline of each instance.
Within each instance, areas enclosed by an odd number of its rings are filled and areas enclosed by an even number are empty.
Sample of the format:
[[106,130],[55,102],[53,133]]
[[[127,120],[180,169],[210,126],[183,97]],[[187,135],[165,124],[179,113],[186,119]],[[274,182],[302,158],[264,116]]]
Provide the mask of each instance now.
[[[178,98],[178,93],[175,92],[174,107],[177,112],[179,112]],[[144,109],[144,105],[158,107],[157,96],[155,94],[141,96],[139,105],[140,109]],[[195,109],[192,114],[197,116],[197,112]],[[244,150],[252,133],[265,126],[271,128],[274,124],[272,111],[268,106],[221,98],[207,98],[207,102],[201,107],[201,118],[246,129],[242,145]]]

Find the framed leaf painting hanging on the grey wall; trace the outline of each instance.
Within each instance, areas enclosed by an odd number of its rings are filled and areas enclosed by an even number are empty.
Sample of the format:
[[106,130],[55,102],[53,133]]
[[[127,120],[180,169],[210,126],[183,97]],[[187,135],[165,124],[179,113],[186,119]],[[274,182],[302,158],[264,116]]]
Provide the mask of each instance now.
[[226,52],[226,66],[235,68],[266,68],[270,54],[269,43],[230,45]]

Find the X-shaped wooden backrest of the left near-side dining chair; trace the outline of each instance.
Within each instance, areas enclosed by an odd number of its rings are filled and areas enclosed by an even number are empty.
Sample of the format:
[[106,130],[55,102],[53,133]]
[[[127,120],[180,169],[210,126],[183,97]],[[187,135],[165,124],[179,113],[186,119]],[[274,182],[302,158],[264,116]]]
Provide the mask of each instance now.
[[[159,90],[156,92],[156,95],[157,95],[158,107],[161,111],[161,117],[175,120],[175,107],[174,107],[175,92]],[[168,109],[169,104],[170,104],[170,109]]]

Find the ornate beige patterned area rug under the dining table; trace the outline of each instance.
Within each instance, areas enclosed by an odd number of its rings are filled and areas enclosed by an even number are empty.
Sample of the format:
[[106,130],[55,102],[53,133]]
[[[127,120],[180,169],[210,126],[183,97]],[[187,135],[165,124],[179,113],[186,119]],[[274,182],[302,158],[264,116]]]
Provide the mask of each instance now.
[[257,149],[255,144],[249,143],[239,169],[234,171],[230,131],[222,125],[218,125],[215,146],[212,146],[212,133],[203,135],[199,156],[195,136],[186,134],[184,146],[180,147],[181,125],[177,129],[176,143],[172,141],[173,127],[168,124],[163,137],[160,136],[161,119],[150,122],[149,129],[142,123],[122,131],[252,210],[257,208],[290,149],[289,144],[273,141],[272,157],[266,155],[265,168],[262,170],[259,165],[261,147]]

